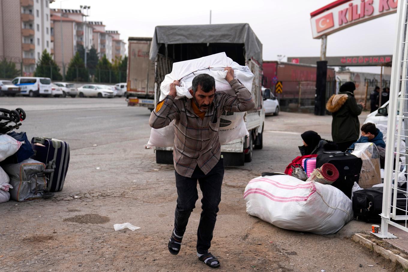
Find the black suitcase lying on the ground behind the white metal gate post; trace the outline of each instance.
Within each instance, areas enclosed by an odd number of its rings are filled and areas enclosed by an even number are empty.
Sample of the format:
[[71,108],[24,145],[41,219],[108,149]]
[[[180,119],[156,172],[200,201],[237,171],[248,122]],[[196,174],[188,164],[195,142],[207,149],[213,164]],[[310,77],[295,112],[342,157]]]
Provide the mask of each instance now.
[[[361,189],[353,193],[353,212],[354,218],[366,222],[381,222],[383,187],[372,187]],[[394,190],[393,190],[394,191]],[[394,192],[392,192],[391,202],[394,201]],[[407,194],[405,192],[397,192],[397,215],[405,215],[404,210],[407,209]]]

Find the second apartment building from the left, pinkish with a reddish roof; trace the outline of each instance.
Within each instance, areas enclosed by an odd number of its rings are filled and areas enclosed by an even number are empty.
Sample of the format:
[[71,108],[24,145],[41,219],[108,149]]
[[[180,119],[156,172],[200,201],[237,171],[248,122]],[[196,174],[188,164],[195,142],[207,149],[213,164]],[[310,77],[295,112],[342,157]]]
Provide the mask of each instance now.
[[83,20],[79,9],[52,9],[51,15],[54,60],[60,67],[67,67],[78,46],[91,49],[93,28]]

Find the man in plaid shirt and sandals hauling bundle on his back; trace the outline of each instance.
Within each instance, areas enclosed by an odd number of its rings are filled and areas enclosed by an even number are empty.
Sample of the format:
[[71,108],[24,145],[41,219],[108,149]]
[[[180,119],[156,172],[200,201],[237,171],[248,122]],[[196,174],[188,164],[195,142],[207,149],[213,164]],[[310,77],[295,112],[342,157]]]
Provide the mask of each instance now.
[[198,199],[197,180],[203,194],[202,212],[197,230],[197,256],[210,267],[220,262],[208,249],[213,239],[218,204],[221,201],[221,185],[224,177],[224,162],[218,137],[223,111],[244,112],[255,107],[251,93],[234,79],[234,70],[226,67],[225,79],[236,96],[215,93],[215,80],[208,74],[195,76],[190,93],[193,98],[176,97],[175,80],[170,93],[157,103],[149,125],[155,129],[166,127],[174,120],[174,167],[177,187],[177,206],[174,229],[169,241],[173,255],[180,252],[188,218]]

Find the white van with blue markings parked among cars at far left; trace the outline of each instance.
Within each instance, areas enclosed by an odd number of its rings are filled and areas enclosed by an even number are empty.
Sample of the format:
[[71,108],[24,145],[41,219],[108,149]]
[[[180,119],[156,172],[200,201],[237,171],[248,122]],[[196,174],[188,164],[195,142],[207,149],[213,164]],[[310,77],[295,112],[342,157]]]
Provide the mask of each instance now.
[[22,95],[51,96],[51,78],[37,78],[28,76],[18,76],[13,79],[13,84],[20,87]]

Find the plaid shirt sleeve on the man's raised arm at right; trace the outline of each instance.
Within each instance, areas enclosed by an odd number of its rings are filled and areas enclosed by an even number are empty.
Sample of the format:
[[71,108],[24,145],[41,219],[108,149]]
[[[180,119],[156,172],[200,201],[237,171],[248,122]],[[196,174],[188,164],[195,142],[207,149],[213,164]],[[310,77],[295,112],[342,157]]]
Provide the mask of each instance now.
[[230,85],[236,96],[225,96],[224,110],[233,112],[249,111],[255,107],[251,93],[239,80],[231,80]]

